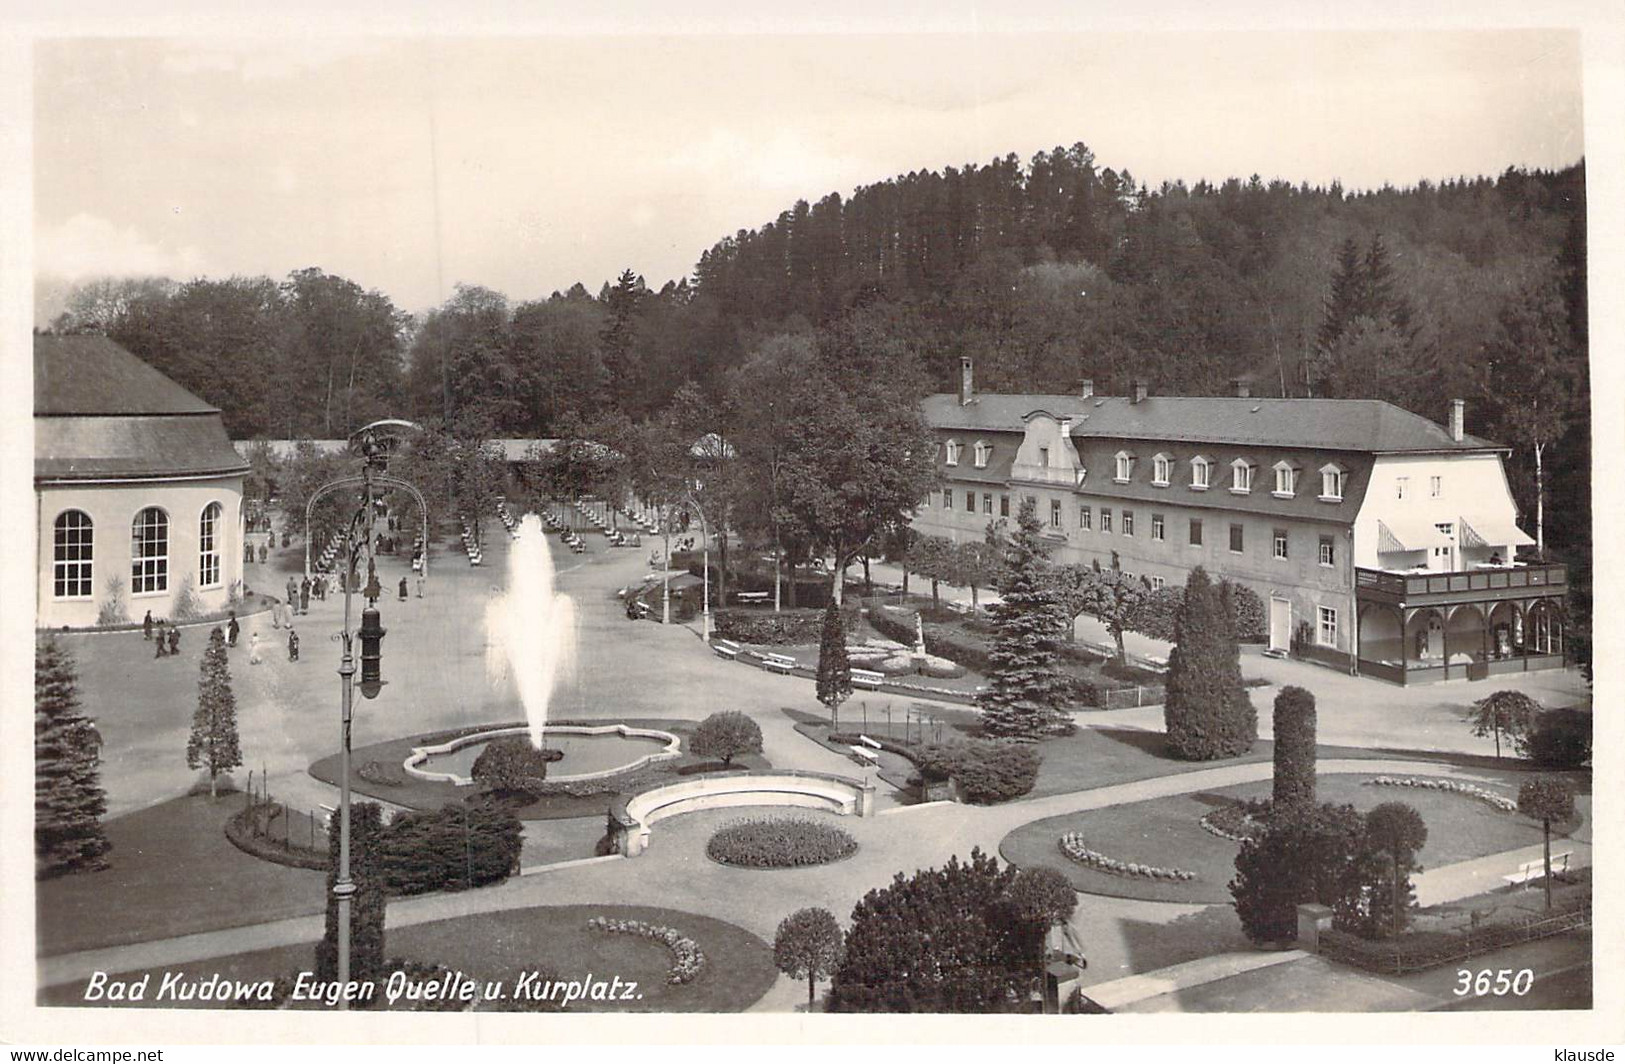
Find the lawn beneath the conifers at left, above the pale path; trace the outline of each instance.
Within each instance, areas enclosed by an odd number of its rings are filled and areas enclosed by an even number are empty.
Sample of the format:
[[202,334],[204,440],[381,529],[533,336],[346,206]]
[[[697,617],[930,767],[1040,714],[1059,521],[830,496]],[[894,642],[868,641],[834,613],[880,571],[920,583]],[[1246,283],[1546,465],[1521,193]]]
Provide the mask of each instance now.
[[104,872],[39,884],[39,955],[320,913],[317,871],[252,858],[226,840],[242,794],[176,798],[107,822]]

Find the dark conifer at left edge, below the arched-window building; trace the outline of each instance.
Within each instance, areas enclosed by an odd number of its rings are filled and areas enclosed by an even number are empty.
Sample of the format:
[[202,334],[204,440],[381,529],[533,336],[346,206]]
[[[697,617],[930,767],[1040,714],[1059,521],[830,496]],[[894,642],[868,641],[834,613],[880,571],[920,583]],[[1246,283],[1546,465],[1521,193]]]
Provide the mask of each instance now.
[[101,736],[80,713],[73,658],[46,637],[34,648],[34,872],[39,879],[107,867]]

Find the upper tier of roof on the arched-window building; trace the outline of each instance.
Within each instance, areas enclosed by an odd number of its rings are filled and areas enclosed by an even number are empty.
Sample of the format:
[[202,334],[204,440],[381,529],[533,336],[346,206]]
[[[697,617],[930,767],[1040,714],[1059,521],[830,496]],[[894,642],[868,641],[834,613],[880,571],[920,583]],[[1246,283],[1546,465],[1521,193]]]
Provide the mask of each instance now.
[[106,336],[34,336],[34,416],[218,414]]

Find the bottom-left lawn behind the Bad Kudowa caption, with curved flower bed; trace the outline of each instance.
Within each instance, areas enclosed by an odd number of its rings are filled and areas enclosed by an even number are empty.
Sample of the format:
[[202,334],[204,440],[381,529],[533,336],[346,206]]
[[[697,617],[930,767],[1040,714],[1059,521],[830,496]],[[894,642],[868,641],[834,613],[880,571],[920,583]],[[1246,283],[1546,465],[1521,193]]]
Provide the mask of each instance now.
[[[666,983],[671,954],[663,944],[639,936],[588,931],[587,921],[593,916],[676,928],[699,944],[705,954],[705,968],[694,981],[671,986]],[[500,980],[510,989],[522,973],[543,968],[559,980],[635,980],[642,994],[639,1001],[582,1001],[572,1004],[572,1010],[739,1012],[752,1006],[778,978],[772,949],[743,928],[696,913],[632,905],[538,906],[413,924],[387,931],[385,955],[445,965],[481,983]],[[314,944],[309,944],[214,957],[162,971],[182,971],[195,978],[219,973],[223,978],[258,981],[312,967]],[[141,975],[145,973],[132,971],[117,978]],[[161,978],[153,980],[154,988]],[[41,994],[41,1004],[76,1006],[83,1002],[83,993],[84,981],[54,986]],[[135,1004],[210,1007],[210,1002]],[[306,1002],[302,1007],[325,1006]],[[491,1007],[500,1006],[492,1002]]]

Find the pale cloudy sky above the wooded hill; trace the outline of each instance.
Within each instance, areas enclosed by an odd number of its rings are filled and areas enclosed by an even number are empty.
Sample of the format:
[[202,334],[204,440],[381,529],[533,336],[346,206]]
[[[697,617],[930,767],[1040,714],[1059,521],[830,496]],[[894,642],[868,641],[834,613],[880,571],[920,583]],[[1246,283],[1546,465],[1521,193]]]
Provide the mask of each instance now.
[[99,275],[660,286],[798,198],[1076,141],[1152,187],[1583,156],[1565,31],[41,39],[32,119],[37,314]]

